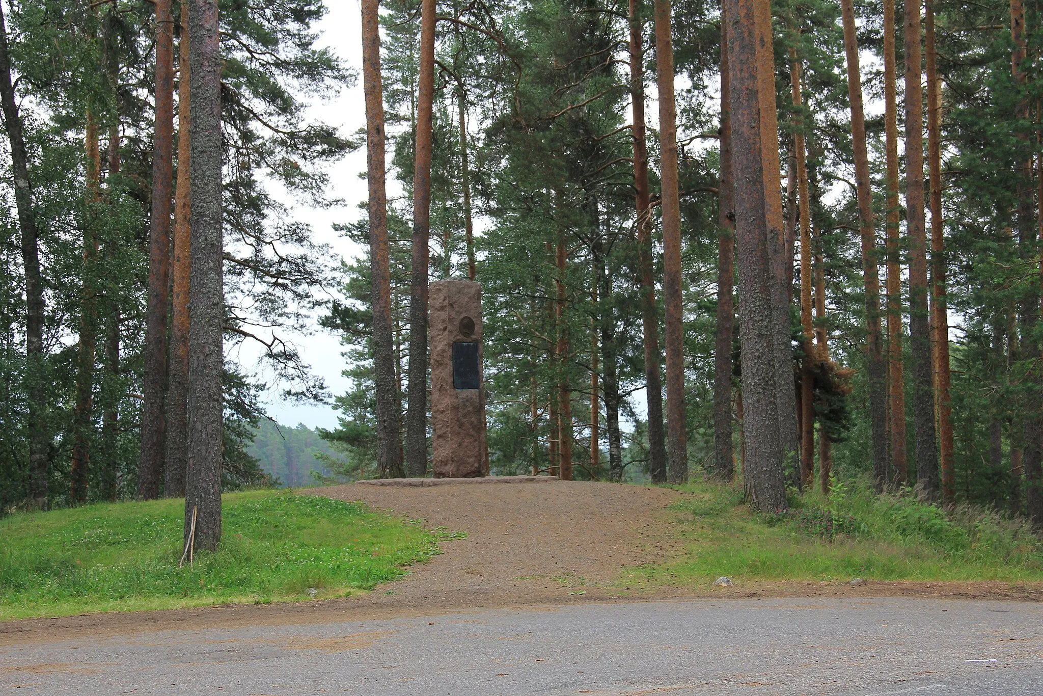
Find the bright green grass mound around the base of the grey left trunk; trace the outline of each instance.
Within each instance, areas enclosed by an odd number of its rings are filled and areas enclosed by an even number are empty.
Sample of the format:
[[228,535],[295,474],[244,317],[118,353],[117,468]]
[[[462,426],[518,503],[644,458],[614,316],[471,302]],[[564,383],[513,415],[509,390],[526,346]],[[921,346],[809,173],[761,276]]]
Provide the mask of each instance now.
[[184,568],[185,503],[97,504],[0,520],[0,620],[318,598],[370,590],[439,553],[438,530],[292,491],[223,497],[216,553]]

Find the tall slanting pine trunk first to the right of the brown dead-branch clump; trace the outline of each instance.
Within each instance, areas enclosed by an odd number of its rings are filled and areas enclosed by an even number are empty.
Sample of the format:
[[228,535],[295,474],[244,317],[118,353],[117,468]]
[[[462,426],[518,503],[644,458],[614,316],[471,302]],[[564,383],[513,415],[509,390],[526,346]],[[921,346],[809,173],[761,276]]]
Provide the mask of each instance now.
[[851,142],[854,152],[855,196],[858,201],[858,232],[862,240],[862,272],[866,288],[866,357],[869,377],[869,414],[873,436],[873,479],[877,493],[889,480],[887,365],[880,336],[880,281],[877,273],[876,232],[873,190],[866,146],[866,116],[863,109],[862,69],[855,34],[854,0],[841,0],[844,22],[844,50],[847,56],[848,99],[851,104]]

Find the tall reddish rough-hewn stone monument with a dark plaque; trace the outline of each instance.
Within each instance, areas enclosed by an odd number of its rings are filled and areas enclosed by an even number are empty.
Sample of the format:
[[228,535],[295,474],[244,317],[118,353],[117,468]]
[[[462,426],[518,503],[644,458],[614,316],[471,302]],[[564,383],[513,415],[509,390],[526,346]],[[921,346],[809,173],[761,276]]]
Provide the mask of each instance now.
[[429,288],[434,475],[436,479],[488,476],[482,286],[448,280],[435,281]]

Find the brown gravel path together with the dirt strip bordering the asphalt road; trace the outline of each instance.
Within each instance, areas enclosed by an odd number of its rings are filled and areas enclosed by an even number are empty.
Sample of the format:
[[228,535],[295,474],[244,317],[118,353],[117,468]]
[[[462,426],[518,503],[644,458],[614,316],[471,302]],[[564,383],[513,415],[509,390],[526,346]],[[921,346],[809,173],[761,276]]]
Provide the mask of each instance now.
[[[903,596],[935,600],[1043,600],[1043,582],[869,580],[852,585],[737,580],[730,587],[706,583],[627,589],[617,582],[622,569],[661,562],[679,552],[682,542],[671,531],[669,511],[678,494],[666,488],[544,482],[508,486],[348,485],[314,493],[361,500],[374,510],[423,520],[428,527],[460,529],[468,532],[468,537],[442,543],[442,555],[414,566],[405,578],[365,595],[19,619],[0,622],[0,646],[191,631],[204,626],[289,626],[492,608],[553,609],[576,603]],[[550,522],[545,519],[549,514],[553,518]],[[543,535],[543,543],[538,543],[537,534]],[[522,548],[526,545],[529,546]]]

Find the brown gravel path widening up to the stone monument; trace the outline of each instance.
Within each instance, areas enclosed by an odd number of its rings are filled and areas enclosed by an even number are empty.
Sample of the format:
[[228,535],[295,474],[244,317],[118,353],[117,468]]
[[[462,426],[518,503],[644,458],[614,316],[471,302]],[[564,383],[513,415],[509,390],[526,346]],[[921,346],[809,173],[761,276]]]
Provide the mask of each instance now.
[[673,490],[549,483],[323,488],[429,527],[465,531],[391,592],[403,605],[503,606],[569,597],[614,597],[621,568],[670,553]]

